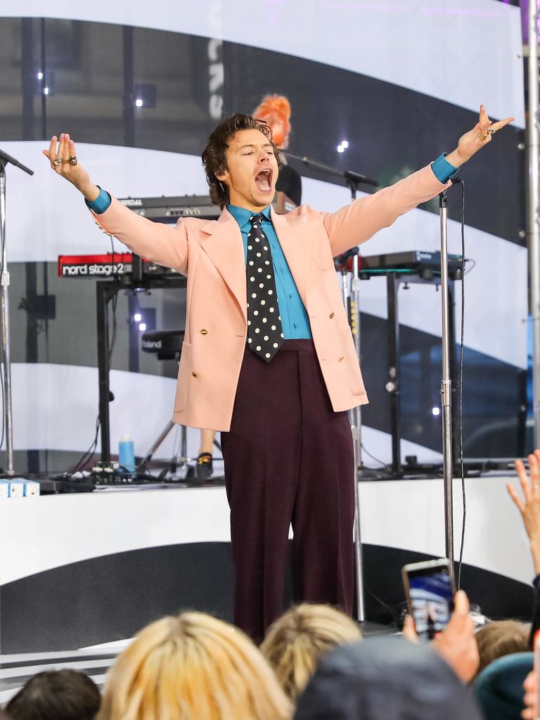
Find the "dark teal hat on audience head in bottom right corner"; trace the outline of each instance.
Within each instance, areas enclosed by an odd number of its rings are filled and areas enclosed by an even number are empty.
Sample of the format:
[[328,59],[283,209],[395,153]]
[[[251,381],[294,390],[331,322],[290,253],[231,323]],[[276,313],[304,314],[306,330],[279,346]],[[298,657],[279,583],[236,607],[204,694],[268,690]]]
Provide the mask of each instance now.
[[523,681],[533,667],[532,652],[518,652],[494,660],[474,680],[474,694],[490,720],[520,720]]

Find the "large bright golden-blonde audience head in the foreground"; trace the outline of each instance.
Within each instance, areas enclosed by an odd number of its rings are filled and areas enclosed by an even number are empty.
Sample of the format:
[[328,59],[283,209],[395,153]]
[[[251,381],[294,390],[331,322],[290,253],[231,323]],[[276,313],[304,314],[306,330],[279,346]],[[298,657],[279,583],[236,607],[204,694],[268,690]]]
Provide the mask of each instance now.
[[248,636],[188,612],[148,625],[120,654],[97,720],[289,720],[291,714]]

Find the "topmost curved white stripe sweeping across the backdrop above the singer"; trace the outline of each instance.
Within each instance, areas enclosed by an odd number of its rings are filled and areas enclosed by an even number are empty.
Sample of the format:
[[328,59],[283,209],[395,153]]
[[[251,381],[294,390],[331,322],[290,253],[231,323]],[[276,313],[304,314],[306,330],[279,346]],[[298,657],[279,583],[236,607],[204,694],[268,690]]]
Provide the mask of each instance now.
[[[493,0],[20,0],[12,17],[132,24],[256,45],[525,126],[521,18]],[[494,52],[496,48],[496,52]]]

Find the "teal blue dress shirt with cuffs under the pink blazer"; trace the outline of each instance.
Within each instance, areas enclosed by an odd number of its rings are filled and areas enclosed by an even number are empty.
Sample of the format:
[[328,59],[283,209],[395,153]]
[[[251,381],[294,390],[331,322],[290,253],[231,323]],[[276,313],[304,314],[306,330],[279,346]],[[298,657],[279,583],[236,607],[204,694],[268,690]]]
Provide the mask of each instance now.
[[[446,154],[447,153],[443,153],[441,156],[438,156],[436,161],[431,163],[433,175],[435,175],[436,179],[438,179],[441,183],[448,182],[449,179],[456,174],[458,169],[446,160]],[[101,215],[102,212],[105,212],[107,207],[111,204],[111,196],[106,190],[99,188],[98,197],[91,202],[87,200],[85,202],[90,210],[93,210],[96,215]],[[253,215],[253,212],[251,212],[251,210],[246,210],[243,207],[236,207],[235,205],[230,204],[227,208],[240,227],[244,246],[244,259],[247,260],[248,230],[251,229],[249,218]],[[274,230],[274,225],[272,225],[270,220],[269,205],[265,207],[262,214],[266,218],[266,220],[263,221],[263,228],[266,233],[266,237],[270,241],[272,263],[274,264],[276,292],[279,304],[279,314],[282,316],[283,336],[286,340],[311,338],[310,322],[307,319],[307,312],[305,311],[302,298],[298,293],[296,283],[294,282],[291,271],[289,270],[287,260],[285,259],[282,251],[282,246],[279,244],[276,231]]]

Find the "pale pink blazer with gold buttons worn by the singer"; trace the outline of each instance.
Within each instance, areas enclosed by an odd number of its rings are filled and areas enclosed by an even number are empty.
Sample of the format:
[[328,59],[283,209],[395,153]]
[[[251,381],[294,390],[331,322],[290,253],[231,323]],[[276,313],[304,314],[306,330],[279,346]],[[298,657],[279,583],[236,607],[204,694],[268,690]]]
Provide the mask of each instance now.
[[[333,257],[364,243],[444,187],[428,166],[338,212],[316,212],[307,205],[287,215],[271,212],[336,411],[368,400]],[[114,198],[95,217],[138,255],[187,276],[186,334],[173,420],[228,431],[247,332],[246,264],[238,223],[225,209],[218,220],[186,217],[172,227],[140,217]]]

